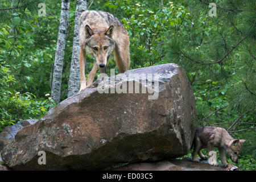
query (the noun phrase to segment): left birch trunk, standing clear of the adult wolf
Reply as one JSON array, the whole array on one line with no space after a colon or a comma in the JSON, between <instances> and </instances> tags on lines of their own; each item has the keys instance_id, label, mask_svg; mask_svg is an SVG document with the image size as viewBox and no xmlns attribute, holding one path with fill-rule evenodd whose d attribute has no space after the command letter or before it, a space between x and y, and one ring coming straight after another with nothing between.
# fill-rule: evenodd
<instances>
[{"instance_id":1,"label":"left birch trunk, standing clear of the adult wolf","mask_svg":"<svg viewBox=\"0 0 256 182\"><path fill-rule=\"evenodd\" d=\"M56 103L60 102L61 78L63 70L65 44L68 32L69 20L69 2L70 0L61 0L60 26L55 52L55 61L52 78L51 97Z\"/></svg>"}]
</instances>

